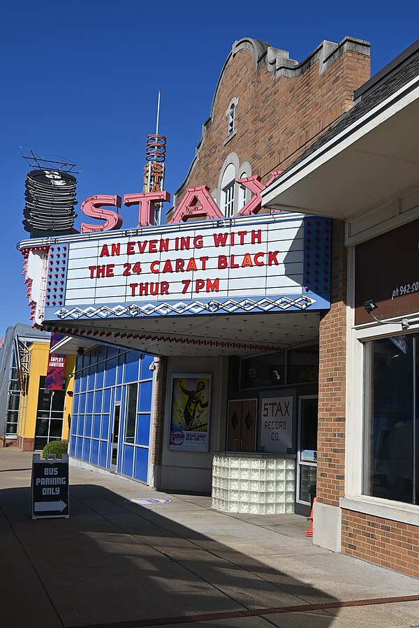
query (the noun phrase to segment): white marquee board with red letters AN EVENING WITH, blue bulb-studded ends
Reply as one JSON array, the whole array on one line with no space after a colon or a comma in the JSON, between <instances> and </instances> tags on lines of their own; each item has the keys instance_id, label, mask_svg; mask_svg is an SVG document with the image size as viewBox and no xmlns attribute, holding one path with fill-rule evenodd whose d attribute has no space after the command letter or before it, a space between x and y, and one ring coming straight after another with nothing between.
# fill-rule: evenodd
<instances>
[{"instance_id":1,"label":"white marquee board with red letters AN EVENING WITH, blue bulb-studded ends","mask_svg":"<svg viewBox=\"0 0 419 628\"><path fill-rule=\"evenodd\" d=\"M330 307L328 219L274 214L238 223L80 235L51 245L45 321Z\"/></svg>"}]
</instances>

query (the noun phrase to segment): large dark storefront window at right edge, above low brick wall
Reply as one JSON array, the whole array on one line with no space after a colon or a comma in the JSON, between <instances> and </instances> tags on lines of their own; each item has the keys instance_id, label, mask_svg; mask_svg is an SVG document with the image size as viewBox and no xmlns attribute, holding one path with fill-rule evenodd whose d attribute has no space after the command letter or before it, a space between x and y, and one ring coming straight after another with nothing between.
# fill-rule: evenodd
<instances>
[{"instance_id":1,"label":"large dark storefront window at right edge, above low brick wall","mask_svg":"<svg viewBox=\"0 0 419 628\"><path fill-rule=\"evenodd\" d=\"M363 494L419 499L419 334L365 343Z\"/></svg>"}]
</instances>

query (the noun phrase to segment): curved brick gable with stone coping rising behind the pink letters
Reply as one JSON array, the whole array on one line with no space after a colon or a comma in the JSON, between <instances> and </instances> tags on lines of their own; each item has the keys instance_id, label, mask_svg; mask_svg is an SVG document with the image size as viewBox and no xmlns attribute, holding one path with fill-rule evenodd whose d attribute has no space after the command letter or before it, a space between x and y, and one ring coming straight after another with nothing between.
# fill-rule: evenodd
<instances>
[{"instance_id":1,"label":"curved brick gable with stone coping rising behind the pink letters","mask_svg":"<svg viewBox=\"0 0 419 628\"><path fill-rule=\"evenodd\" d=\"M323 41L302 63L267 43L235 42L175 206L191 187L207 185L216 198L231 154L240 164L249 163L247 175L260 175L263 183L272 170L284 170L351 108L353 92L369 78L369 69L369 43L353 38ZM235 130L229 135L232 103Z\"/></svg>"}]
</instances>

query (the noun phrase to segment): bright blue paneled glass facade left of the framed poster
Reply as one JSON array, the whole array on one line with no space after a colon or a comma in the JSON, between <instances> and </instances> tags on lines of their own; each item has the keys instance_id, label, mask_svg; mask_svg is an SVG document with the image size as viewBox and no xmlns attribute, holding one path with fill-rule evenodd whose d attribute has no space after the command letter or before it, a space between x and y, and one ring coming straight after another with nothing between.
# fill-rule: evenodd
<instances>
[{"instance_id":1,"label":"bright blue paneled glass facade left of the framed poster","mask_svg":"<svg viewBox=\"0 0 419 628\"><path fill-rule=\"evenodd\" d=\"M104 345L95 346L78 358L70 455L103 469L111 469L112 463L113 471L147 482L152 410L152 371L149 366L152 360L153 357L145 353ZM130 426L127 429L127 389L130 384ZM134 387L134 413L132 384L138 384ZM115 405L120 406L120 421L117 455L114 453L112 459Z\"/></svg>"}]
</instances>

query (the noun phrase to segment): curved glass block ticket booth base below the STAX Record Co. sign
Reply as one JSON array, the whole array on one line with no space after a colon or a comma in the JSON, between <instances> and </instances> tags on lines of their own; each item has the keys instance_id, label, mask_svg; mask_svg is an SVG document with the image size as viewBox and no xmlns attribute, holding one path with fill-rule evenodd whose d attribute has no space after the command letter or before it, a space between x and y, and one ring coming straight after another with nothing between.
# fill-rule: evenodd
<instances>
[{"instance_id":1,"label":"curved glass block ticket booth base below the STAX Record Co. sign","mask_svg":"<svg viewBox=\"0 0 419 628\"><path fill-rule=\"evenodd\" d=\"M294 512L293 458L237 458L214 455L212 507L223 512L285 514Z\"/></svg>"}]
</instances>

